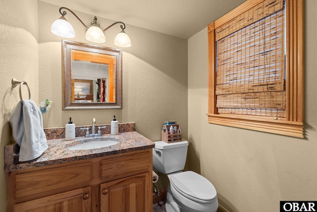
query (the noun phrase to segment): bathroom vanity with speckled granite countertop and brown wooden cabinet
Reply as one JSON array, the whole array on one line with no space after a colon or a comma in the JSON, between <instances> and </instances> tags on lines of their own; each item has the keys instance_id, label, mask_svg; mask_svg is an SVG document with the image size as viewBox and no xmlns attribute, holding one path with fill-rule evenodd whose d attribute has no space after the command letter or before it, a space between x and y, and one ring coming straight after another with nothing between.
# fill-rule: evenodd
<instances>
[{"instance_id":1,"label":"bathroom vanity with speckled granite countertop and brown wooden cabinet","mask_svg":"<svg viewBox=\"0 0 317 212\"><path fill-rule=\"evenodd\" d=\"M15 162L16 144L5 146L8 212L152 212L154 142L137 132L105 137L119 143L68 150L83 138L48 140L28 162Z\"/></svg>"}]
</instances>

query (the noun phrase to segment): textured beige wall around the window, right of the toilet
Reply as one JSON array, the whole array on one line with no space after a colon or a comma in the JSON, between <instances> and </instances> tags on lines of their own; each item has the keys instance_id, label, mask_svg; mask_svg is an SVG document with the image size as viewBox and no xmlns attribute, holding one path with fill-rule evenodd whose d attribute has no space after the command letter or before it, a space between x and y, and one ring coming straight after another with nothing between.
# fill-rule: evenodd
<instances>
[{"instance_id":1,"label":"textured beige wall around the window, right of the toilet","mask_svg":"<svg viewBox=\"0 0 317 212\"><path fill-rule=\"evenodd\" d=\"M316 9L305 1L305 139L208 124L207 28L188 40L189 169L212 182L229 212L317 200Z\"/></svg>"}]
</instances>

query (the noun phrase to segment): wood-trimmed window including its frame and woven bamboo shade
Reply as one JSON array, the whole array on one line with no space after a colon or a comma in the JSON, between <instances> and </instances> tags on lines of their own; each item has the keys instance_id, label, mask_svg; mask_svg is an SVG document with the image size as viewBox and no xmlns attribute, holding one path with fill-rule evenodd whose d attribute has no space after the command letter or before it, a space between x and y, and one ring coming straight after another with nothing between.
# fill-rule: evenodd
<instances>
[{"instance_id":1,"label":"wood-trimmed window including its frame and woven bamboo shade","mask_svg":"<svg viewBox=\"0 0 317 212\"><path fill-rule=\"evenodd\" d=\"M208 34L209 123L303 138L303 1L247 0Z\"/></svg>"}]
</instances>

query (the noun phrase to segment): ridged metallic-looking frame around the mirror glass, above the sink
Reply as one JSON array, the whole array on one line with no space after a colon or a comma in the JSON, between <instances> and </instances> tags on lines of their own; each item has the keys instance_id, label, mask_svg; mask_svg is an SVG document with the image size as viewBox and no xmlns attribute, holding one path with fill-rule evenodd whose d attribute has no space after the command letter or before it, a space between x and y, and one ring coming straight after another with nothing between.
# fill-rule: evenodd
<instances>
[{"instance_id":1,"label":"ridged metallic-looking frame around the mirror glass, above the sink","mask_svg":"<svg viewBox=\"0 0 317 212\"><path fill-rule=\"evenodd\" d=\"M72 50L115 57L115 102L72 102ZM63 110L122 109L122 50L62 40L62 96Z\"/></svg>"}]
</instances>

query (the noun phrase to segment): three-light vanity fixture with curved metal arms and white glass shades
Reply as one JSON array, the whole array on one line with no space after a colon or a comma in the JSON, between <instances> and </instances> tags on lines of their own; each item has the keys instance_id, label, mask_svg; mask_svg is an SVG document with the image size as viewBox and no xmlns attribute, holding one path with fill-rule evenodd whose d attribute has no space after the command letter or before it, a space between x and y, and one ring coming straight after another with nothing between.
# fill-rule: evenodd
<instances>
[{"instance_id":1,"label":"three-light vanity fixture with curved metal arms and white glass shades","mask_svg":"<svg viewBox=\"0 0 317 212\"><path fill-rule=\"evenodd\" d=\"M51 27L51 32L54 35L64 37L64 38L74 38L75 37L75 30L73 26L66 20L65 15L67 12L62 9L69 10L86 28L86 39L88 41L94 42L94 43L105 43L106 37L104 32L108 30L110 27L117 23L121 23L121 32L119 32L115 38L114 38L114 45L118 47L130 47L131 46L131 40L129 36L125 33L125 24L121 21L114 22L110 26L108 26L106 29L102 30L100 28L100 24L97 22L97 17L94 17L94 20L90 23L89 26L86 26L84 22L70 9L67 7L60 7L59 13L61 14L61 17L55 20Z\"/></svg>"}]
</instances>

